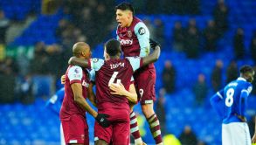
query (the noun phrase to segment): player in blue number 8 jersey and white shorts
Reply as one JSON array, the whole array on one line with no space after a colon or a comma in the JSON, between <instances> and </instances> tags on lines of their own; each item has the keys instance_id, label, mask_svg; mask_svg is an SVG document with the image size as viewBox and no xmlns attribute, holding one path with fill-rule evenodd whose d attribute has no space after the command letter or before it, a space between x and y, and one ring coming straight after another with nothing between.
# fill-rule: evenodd
<instances>
[{"instance_id":1,"label":"player in blue number 8 jersey and white shorts","mask_svg":"<svg viewBox=\"0 0 256 145\"><path fill-rule=\"evenodd\" d=\"M246 123L246 104L252 92L254 71L242 66L240 76L211 97L211 106L222 118L223 145L251 145Z\"/></svg>"}]
</instances>

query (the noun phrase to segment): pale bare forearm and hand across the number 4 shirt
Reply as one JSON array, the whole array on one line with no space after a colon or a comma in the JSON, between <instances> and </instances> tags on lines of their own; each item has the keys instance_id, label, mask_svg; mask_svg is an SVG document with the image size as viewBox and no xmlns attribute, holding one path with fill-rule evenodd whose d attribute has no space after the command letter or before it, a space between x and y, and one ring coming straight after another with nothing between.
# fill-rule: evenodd
<instances>
[{"instance_id":1,"label":"pale bare forearm and hand across the number 4 shirt","mask_svg":"<svg viewBox=\"0 0 256 145\"><path fill-rule=\"evenodd\" d=\"M111 94L118 94L121 96L125 96L130 102L135 103L137 101L137 93L135 91L135 85L131 84L129 86L129 91L125 89L125 87L119 83L119 84L111 84L109 88L114 91L111 92Z\"/></svg>"}]
</instances>

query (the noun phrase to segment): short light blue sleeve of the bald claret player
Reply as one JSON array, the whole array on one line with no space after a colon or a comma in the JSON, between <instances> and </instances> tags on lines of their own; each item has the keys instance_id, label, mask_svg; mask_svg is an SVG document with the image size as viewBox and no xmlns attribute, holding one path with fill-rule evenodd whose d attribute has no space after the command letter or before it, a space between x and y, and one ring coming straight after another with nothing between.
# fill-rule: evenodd
<instances>
[{"instance_id":1,"label":"short light blue sleeve of the bald claret player","mask_svg":"<svg viewBox=\"0 0 256 145\"><path fill-rule=\"evenodd\" d=\"M67 77L70 80L70 84L81 83L83 77L83 70L80 66L72 66L67 72Z\"/></svg>"}]
</instances>

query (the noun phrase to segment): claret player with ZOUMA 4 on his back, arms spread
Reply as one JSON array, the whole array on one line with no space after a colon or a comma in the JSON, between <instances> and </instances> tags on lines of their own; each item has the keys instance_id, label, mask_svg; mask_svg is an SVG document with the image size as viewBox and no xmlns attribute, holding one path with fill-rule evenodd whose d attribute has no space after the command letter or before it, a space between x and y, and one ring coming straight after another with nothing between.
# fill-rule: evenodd
<instances>
[{"instance_id":1,"label":"claret player with ZOUMA 4 on his back, arms spread","mask_svg":"<svg viewBox=\"0 0 256 145\"><path fill-rule=\"evenodd\" d=\"M99 114L107 114L109 128L102 128L98 122L94 126L94 141L96 144L129 144L129 100L136 101L135 87L131 92L133 73L140 67L156 61L160 55L160 47L147 57L127 57L120 59L121 44L111 39L105 45L105 61L103 59L82 60L70 59L71 64L89 67L95 70L96 102ZM117 83L117 85L114 85ZM120 86L118 85L120 84ZM110 88L114 90L111 92ZM126 91L126 90L129 90ZM123 96L123 97L122 97Z\"/></svg>"}]
</instances>

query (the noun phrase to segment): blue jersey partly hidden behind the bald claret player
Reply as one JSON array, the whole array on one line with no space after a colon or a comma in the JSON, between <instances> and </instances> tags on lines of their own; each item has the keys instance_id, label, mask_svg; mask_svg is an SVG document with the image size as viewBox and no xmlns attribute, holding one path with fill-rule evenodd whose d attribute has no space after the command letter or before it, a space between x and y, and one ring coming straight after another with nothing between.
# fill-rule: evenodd
<instances>
[{"instance_id":1,"label":"blue jersey partly hidden behind the bald claret player","mask_svg":"<svg viewBox=\"0 0 256 145\"><path fill-rule=\"evenodd\" d=\"M46 107L50 108L53 113L59 115L64 95L64 87L62 87L46 102Z\"/></svg>"}]
</instances>

